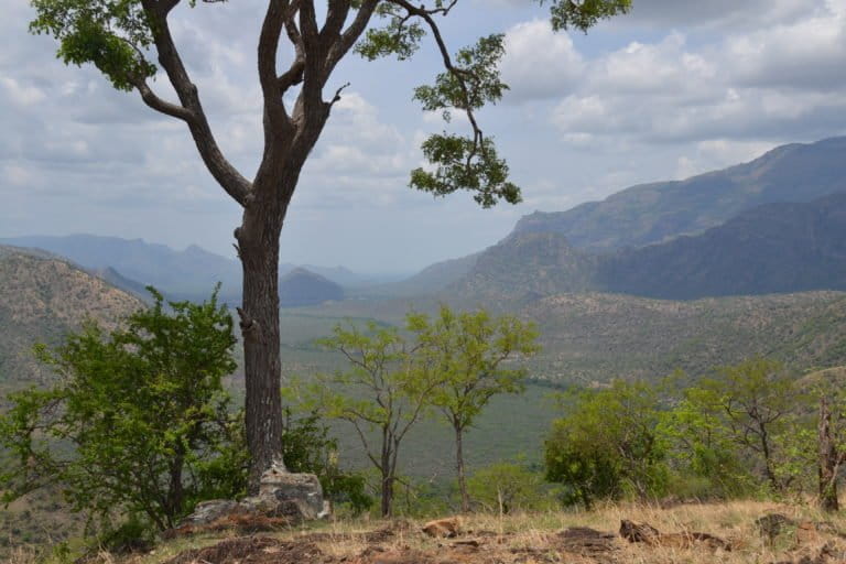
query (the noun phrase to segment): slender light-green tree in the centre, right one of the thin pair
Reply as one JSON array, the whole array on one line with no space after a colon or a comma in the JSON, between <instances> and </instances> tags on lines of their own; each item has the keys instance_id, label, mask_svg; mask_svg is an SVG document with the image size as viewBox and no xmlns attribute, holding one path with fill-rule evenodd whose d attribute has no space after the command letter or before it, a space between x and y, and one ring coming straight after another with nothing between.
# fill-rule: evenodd
<instances>
[{"instance_id":1,"label":"slender light-green tree in the centre, right one of the thin pair","mask_svg":"<svg viewBox=\"0 0 846 564\"><path fill-rule=\"evenodd\" d=\"M453 429L462 511L470 509L464 466L464 434L494 395L523 390L525 369L507 364L539 350L538 330L511 316L492 318L487 312L454 313L442 305L434 321L410 315L423 364L442 380L430 398Z\"/></svg>"}]
</instances>

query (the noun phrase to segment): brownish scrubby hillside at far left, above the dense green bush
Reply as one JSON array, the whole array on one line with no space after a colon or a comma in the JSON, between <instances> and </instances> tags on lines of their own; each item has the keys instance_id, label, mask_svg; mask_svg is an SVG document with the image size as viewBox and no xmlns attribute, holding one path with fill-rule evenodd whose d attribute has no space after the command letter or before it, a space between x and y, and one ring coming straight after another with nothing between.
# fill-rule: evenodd
<instances>
[{"instance_id":1,"label":"brownish scrubby hillside at far left, above the dense green bush","mask_svg":"<svg viewBox=\"0 0 846 564\"><path fill-rule=\"evenodd\" d=\"M68 262L0 247L0 387L37 381L30 350L90 317L106 327L142 303Z\"/></svg>"}]
</instances>

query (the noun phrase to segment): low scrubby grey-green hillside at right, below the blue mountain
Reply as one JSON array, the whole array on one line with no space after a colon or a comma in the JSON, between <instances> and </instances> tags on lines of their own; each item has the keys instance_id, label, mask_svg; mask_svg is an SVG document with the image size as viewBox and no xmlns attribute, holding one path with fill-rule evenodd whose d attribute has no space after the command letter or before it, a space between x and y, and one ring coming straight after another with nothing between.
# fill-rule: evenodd
<instances>
[{"instance_id":1,"label":"low scrubby grey-green hillside at right, below the blue mountain","mask_svg":"<svg viewBox=\"0 0 846 564\"><path fill-rule=\"evenodd\" d=\"M536 378L556 382L702 375L756 355L804 371L846 364L846 293L807 292L694 302L563 294L527 305L541 330Z\"/></svg>"}]
</instances>

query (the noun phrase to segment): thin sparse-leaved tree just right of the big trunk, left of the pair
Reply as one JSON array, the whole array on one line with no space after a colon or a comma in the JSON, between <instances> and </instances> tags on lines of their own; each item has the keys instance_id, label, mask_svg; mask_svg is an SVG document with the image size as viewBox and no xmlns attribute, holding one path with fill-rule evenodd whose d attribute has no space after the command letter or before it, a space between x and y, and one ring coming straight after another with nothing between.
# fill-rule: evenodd
<instances>
[{"instance_id":1,"label":"thin sparse-leaved tree just right of the big trunk, left of the pair","mask_svg":"<svg viewBox=\"0 0 846 564\"><path fill-rule=\"evenodd\" d=\"M319 408L327 417L352 425L380 476L381 513L393 510L400 444L417 422L437 381L421 369L413 350L393 328L375 323L367 332L335 327L323 340L339 351L349 369L317 375L315 381L296 386L302 403Z\"/></svg>"}]
</instances>

